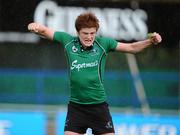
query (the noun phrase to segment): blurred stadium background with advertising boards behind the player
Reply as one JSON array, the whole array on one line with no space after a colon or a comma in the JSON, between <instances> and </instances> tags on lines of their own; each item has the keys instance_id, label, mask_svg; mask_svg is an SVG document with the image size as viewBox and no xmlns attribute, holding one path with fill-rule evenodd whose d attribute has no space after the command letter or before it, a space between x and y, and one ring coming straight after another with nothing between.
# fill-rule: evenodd
<instances>
[{"instance_id":1,"label":"blurred stadium background with advertising boards behind the player","mask_svg":"<svg viewBox=\"0 0 180 135\"><path fill-rule=\"evenodd\" d=\"M75 35L74 20L84 11L99 18L99 36L133 42L156 31L163 39L136 55L108 56L104 83L110 110L120 115L113 115L116 134L132 135L123 132L129 129L145 135L142 127L151 123L148 135L180 135L179 0L0 0L0 135L24 134L21 120L39 121L26 135L63 134L70 94L64 50L29 33L27 25L35 21ZM137 122L139 115L146 123Z\"/></svg>"}]
</instances>

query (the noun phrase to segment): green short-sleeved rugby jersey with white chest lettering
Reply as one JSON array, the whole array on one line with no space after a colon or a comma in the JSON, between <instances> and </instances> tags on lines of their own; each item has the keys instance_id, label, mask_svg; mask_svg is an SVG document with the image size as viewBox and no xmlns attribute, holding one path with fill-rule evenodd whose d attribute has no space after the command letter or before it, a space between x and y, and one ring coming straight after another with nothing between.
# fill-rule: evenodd
<instances>
[{"instance_id":1,"label":"green short-sleeved rugby jersey with white chest lettering","mask_svg":"<svg viewBox=\"0 0 180 135\"><path fill-rule=\"evenodd\" d=\"M114 51L117 41L96 37L90 49L83 50L78 37L55 32L53 41L59 42L68 59L70 71L70 101L79 104L98 104L106 100L103 86L108 52Z\"/></svg>"}]
</instances>

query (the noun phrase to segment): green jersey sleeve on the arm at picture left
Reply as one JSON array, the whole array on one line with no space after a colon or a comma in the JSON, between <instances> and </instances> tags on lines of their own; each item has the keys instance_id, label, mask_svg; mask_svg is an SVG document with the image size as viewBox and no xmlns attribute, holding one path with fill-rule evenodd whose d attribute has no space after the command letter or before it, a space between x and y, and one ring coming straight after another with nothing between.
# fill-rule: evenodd
<instances>
[{"instance_id":1,"label":"green jersey sleeve on the arm at picture left","mask_svg":"<svg viewBox=\"0 0 180 135\"><path fill-rule=\"evenodd\" d=\"M56 31L53 36L53 41L60 43L63 47L73 40L73 36L66 32Z\"/></svg>"}]
</instances>

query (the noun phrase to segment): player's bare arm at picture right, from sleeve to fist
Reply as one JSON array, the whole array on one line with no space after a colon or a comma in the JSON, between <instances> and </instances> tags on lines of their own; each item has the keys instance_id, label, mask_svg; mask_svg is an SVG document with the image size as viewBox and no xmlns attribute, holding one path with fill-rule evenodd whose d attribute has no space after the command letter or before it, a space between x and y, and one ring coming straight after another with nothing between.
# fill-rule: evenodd
<instances>
[{"instance_id":1,"label":"player's bare arm at picture right, from sleeve to fist","mask_svg":"<svg viewBox=\"0 0 180 135\"><path fill-rule=\"evenodd\" d=\"M137 53L142 50L144 50L147 47L150 47L152 45L157 45L162 40L161 36L154 32L151 35L149 35L149 38L142 41L137 41L133 43L122 43L118 42L118 45L116 47L116 51L125 52L125 53Z\"/></svg>"}]
</instances>

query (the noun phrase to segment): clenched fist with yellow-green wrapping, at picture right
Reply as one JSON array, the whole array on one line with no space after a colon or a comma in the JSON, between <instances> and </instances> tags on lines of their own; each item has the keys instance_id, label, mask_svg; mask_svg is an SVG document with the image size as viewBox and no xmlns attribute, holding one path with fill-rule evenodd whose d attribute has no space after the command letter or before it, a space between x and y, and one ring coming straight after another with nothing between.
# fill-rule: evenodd
<instances>
[{"instance_id":1,"label":"clenched fist with yellow-green wrapping, at picture right","mask_svg":"<svg viewBox=\"0 0 180 135\"><path fill-rule=\"evenodd\" d=\"M162 41L161 35L159 33L153 32L148 34L149 39L151 40L152 44L157 45Z\"/></svg>"}]
</instances>

